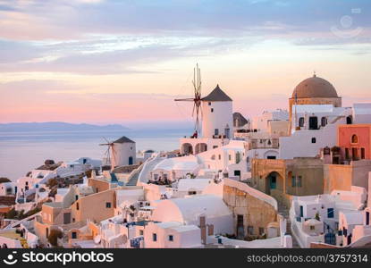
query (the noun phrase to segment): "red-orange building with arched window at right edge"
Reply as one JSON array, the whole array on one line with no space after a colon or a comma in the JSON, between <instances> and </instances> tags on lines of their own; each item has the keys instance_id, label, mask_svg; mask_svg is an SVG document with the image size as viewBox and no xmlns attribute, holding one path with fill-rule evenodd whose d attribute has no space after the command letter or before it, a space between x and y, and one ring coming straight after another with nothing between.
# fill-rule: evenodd
<instances>
[{"instance_id":1,"label":"red-orange building with arched window at right edge","mask_svg":"<svg viewBox=\"0 0 371 268\"><path fill-rule=\"evenodd\" d=\"M338 146L345 160L371 159L371 124L339 126Z\"/></svg>"}]
</instances>

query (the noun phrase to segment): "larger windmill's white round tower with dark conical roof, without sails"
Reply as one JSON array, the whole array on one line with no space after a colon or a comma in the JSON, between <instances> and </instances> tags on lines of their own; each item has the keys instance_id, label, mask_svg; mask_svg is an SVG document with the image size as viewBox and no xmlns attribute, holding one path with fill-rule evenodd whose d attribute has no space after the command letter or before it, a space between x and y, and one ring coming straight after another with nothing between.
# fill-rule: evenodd
<instances>
[{"instance_id":1,"label":"larger windmill's white round tower with dark conical roof, without sails","mask_svg":"<svg viewBox=\"0 0 371 268\"><path fill-rule=\"evenodd\" d=\"M232 98L219 85L201 99L202 138L233 138Z\"/></svg>"}]
</instances>

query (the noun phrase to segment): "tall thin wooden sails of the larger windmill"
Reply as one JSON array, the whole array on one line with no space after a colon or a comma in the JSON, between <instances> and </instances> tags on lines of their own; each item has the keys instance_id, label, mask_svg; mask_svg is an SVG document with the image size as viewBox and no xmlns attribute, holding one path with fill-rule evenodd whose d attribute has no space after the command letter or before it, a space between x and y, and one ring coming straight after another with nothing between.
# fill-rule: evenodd
<instances>
[{"instance_id":1,"label":"tall thin wooden sails of the larger windmill","mask_svg":"<svg viewBox=\"0 0 371 268\"><path fill-rule=\"evenodd\" d=\"M202 117L202 110L201 107L201 70L198 68L198 64L193 69L193 80L192 80L193 88L195 91L194 97L187 97L187 98L176 98L174 101L176 102L193 102L193 110L192 110L192 117L195 117L196 113L196 120L195 120L195 131L199 133L199 112L201 111Z\"/></svg>"}]
</instances>

